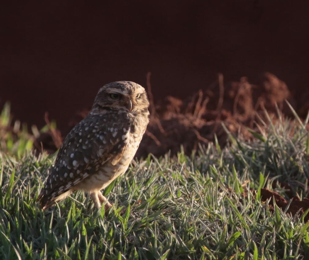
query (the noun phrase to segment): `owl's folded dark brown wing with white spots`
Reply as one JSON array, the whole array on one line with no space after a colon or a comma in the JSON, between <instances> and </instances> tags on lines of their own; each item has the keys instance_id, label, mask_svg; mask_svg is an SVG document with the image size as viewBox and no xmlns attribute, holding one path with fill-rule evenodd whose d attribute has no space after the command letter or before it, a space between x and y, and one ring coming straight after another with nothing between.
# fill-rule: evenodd
<instances>
[{"instance_id":1,"label":"owl's folded dark brown wing with white spots","mask_svg":"<svg viewBox=\"0 0 309 260\"><path fill-rule=\"evenodd\" d=\"M116 164L127 147L130 121L122 113L89 114L66 136L38 200L42 208L69 191L108 161Z\"/></svg>"}]
</instances>

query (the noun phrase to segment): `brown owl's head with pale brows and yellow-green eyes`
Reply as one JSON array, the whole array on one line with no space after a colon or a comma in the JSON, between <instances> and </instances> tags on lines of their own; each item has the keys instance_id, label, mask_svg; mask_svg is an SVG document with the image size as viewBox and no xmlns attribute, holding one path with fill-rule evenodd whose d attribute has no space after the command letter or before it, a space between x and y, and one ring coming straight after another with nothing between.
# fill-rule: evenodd
<instances>
[{"instance_id":1,"label":"brown owl's head with pale brows and yellow-green eyes","mask_svg":"<svg viewBox=\"0 0 309 260\"><path fill-rule=\"evenodd\" d=\"M131 81L116 81L104 85L95 97L92 110L115 109L139 112L148 109L145 89Z\"/></svg>"}]
</instances>

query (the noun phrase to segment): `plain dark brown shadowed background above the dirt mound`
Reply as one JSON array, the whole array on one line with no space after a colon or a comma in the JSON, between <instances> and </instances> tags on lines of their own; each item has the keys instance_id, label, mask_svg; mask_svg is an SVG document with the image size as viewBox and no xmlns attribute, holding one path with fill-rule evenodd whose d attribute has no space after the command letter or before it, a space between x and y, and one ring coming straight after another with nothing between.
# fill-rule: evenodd
<instances>
[{"instance_id":1,"label":"plain dark brown shadowed background above the dirt mound","mask_svg":"<svg viewBox=\"0 0 309 260\"><path fill-rule=\"evenodd\" d=\"M211 3L213 2L213 3ZM1 7L0 107L67 126L100 86L151 83L155 99L184 98L222 72L268 71L308 100L308 1L52 1ZM307 90L307 92L306 92Z\"/></svg>"}]
</instances>

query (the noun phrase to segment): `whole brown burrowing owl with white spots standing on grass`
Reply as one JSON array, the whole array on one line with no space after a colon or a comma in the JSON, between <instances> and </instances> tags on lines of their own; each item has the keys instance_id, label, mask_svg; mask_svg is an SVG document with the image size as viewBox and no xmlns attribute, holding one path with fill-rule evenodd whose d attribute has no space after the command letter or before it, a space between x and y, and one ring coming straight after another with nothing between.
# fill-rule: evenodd
<instances>
[{"instance_id":1,"label":"whole brown burrowing owl with white spots standing on grass","mask_svg":"<svg viewBox=\"0 0 309 260\"><path fill-rule=\"evenodd\" d=\"M145 89L130 81L104 85L91 112L65 138L38 200L44 209L70 193L90 194L96 207L112 205L100 190L124 174L149 122Z\"/></svg>"}]
</instances>

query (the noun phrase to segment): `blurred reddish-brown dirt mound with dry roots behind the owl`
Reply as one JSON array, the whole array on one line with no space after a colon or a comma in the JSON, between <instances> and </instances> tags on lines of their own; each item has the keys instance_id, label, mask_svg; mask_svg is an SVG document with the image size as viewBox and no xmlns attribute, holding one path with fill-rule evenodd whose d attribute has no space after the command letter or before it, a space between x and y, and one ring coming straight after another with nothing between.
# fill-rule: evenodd
<instances>
[{"instance_id":1,"label":"blurred reddish-brown dirt mound with dry roots behind the owl","mask_svg":"<svg viewBox=\"0 0 309 260\"><path fill-rule=\"evenodd\" d=\"M147 77L147 88L150 96L150 123L136 154L139 158L149 153L161 156L168 151L173 155L180 150L180 145L190 154L198 143L214 141L214 135L223 146L227 134L222 124L235 135L252 138L247 127L254 128L254 123L259 121L257 115L265 119L264 109L275 118L277 109L286 116L293 116L285 100L292 106L296 103L287 85L271 73L263 74L258 84L251 84L246 77L224 84L223 75L219 74L218 80L206 90L200 90L184 100L168 96L156 104L151 93L150 74ZM66 136L88 112L84 110L74 115L62 136ZM56 133L50 131L40 136L36 146L41 148L40 143L43 143L44 149L56 151L61 140L61 136L55 136Z\"/></svg>"}]
</instances>

